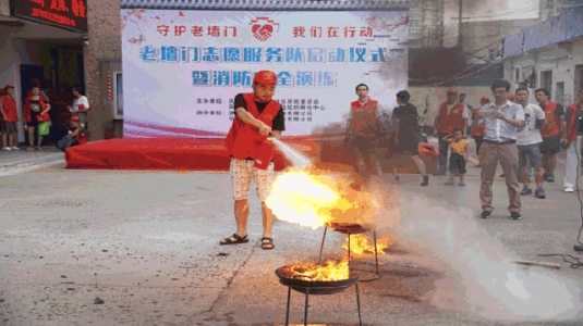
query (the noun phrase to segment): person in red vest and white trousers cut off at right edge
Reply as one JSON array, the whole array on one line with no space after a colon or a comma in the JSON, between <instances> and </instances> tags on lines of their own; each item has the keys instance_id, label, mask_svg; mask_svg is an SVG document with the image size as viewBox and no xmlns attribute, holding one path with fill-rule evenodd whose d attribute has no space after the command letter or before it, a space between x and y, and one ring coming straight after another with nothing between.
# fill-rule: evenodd
<instances>
[{"instance_id":1,"label":"person in red vest and white trousers cut off at right edge","mask_svg":"<svg viewBox=\"0 0 583 326\"><path fill-rule=\"evenodd\" d=\"M573 192L573 188L578 186L578 168L581 166L581 162L583 162L581 160L581 138L583 137L583 89L579 92L579 102L567 108L564 120L567 121L567 128L564 129L562 138L563 146L567 148L567 158L562 185L566 192Z\"/></svg>"}]
</instances>

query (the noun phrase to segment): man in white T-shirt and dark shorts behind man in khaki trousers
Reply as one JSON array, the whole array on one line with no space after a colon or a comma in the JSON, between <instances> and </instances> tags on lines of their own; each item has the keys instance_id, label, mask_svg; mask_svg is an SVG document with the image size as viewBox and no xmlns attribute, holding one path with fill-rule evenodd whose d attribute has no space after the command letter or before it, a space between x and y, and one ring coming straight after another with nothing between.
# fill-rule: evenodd
<instances>
[{"instance_id":1,"label":"man in white T-shirt and dark shorts behind man in khaki trousers","mask_svg":"<svg viewBox=\"0 0 583 326\"><path fill-rule=\"evenodd\" d=\"M541 106L529 103L530 92L526 88L517 89L515 95L517 103L520 104L524 111L524 125L517 131L520 176L524 184L520 195L525 196L533 193L533 189L530 187L527 172L530 165L534 168L534 179L536 183L534 196L536 198L545 198L545 190L543 189L543 155L541 154L541 143L543 142L541 129L547 124L545 112Z\"/></svg>"}]
</instances>

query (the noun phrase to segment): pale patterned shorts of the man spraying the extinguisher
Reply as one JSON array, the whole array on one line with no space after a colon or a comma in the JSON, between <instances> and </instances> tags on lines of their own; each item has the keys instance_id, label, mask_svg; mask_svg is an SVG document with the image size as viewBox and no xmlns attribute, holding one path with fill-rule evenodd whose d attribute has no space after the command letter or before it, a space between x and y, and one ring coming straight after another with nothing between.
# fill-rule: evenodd
<instances>
[{"instance_id":1,"label":"pale patterned shorts of the man spraying the extinguisher","mask_svg":"<svg viewBox=\"0 0 583 326\"><path fill-rule=\"evenodd\" d=\"M274 162L267 170L256 168L255 161L231 159L231 179L233 183L234 200L247 199L251 188L251 179L255 180L255 189L259 201L264 202L269 196L274 181Z\"/></svg>"}]
</instances>

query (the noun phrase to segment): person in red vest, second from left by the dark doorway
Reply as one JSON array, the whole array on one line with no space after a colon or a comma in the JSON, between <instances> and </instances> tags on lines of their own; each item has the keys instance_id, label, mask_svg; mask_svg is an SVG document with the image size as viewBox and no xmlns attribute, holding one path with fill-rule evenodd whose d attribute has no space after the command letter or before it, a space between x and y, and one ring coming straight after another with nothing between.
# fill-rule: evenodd
<instances>
[{"instance_id":1,"label":"person in red vest, second from left by the dark doorway","mask_svg":"<svg viewBox=\"0 0 583 326\"><path fill-rule=\"evenodd\" d=\"M27 151L35 149L35 130L38 130L38 122L48 117L47 112L50 110L50 105L45 102L45 98L40 96L40 88L34 86L31 90L32 95L24 100L24 130L28 130L28 148ZM37 135L37 150L40 150L40 143L42 142L42 136Z\"/></svg>"}]
</instances>

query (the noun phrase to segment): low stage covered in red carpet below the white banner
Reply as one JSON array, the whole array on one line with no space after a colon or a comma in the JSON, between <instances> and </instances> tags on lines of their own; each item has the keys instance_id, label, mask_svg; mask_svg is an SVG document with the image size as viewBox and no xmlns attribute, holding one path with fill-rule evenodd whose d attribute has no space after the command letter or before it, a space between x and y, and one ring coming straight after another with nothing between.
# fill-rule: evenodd
<instances>
[{"instance_id":1,"label":"low stage covered in red carpet below the white banner","mask_svg":"<svg viewBox=\"0 0 583 326\"><path fill-rule=\"evenodd\" d=\"M282 139L287 145L323 162L353 165L342 141L315 141L307 138ZM65 151L68 168L90 170L177 170L229 171L230 156L222 146L223 139L207 138L123 138L89 142ZM435 161L422 154L430 173ZM280 151L274 155L276 171L291 166ZM408 161L409 160L409 161ZM386 161L386 160L382 160ZM386 162L382 162L384 170ZM400 173L415 173L413 161L405 158L399 164ZM413 170L412 170L413 167Z\"/></svg>"}]
</instances>

